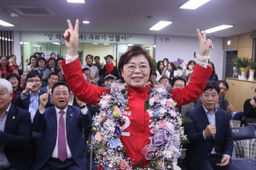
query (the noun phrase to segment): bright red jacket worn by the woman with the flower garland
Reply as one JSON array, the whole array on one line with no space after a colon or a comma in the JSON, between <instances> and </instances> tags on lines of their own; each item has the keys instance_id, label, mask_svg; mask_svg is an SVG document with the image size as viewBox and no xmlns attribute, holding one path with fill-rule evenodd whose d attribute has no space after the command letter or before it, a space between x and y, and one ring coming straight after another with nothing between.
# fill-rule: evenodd
<instances>
[{"instance_id":1,"label":"bright red jacket worn by the woman with the flower garland","mask_svg":"<svg viewBox=\"0 0 256 170\"><path fill-rule=\"evenodd\" d=\"M61 65L69 88L75 96L85 103L96 105L102 94L108 93L107 88L87 83L84 80L79 59L67 65L66 60L63 60ZM189 85L172 90L172 99L176 100L177 107L187 105L198 99L211 73L212 68L195 65ZM135 163L145 158L142 153L143 148L147 144L153 143L154 134L150 132L150 119L153 116L153 112L144 110L144 102L148 98L148 94L148 86L145 88L128 88L128 107L130 109L124 113L126 121L120 124L122 126L121 141L126 148L128 156ZM147 164L148 161L143 161L143 165Z\"/></svg>"}]
</instances>

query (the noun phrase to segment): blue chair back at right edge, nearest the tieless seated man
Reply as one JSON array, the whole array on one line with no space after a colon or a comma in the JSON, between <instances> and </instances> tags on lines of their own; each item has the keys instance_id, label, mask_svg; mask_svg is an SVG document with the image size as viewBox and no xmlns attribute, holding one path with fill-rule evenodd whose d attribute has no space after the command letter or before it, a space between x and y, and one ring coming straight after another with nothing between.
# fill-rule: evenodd
<instances>
[{"instance_id":1,"label":"blue chair back at right edge, nearest the tieless seated man","mask_svg":"<svg viewBox=\"0 0 256 170\"><path fill-rule=\"evenodd\" d=\"M252 126L230 127L233 140L256 139L255 130Z\"/></svg>"}]
</instances>

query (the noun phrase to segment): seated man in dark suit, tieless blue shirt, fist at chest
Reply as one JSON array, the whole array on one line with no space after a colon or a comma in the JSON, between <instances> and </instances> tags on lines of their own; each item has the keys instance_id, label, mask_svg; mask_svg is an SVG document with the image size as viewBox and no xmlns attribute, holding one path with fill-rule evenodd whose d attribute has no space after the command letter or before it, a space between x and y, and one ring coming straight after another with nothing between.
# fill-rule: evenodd
<instances>
[{"instance_id":1,"label":"seated man in dark suit, tieless blue shirt, fist at chest","mask_svg":"<svg viewBox=\"0 0 256 170\"><path fill-rule=\"evenodd\" d=\"M189 170L236 170L230 161L233 139L230 118L226 111L215 107L219 86L207 82L201 94L202 105L186 113L192 122L184 124L189 144L185 162Z\"/></svg>"}]
</instances>

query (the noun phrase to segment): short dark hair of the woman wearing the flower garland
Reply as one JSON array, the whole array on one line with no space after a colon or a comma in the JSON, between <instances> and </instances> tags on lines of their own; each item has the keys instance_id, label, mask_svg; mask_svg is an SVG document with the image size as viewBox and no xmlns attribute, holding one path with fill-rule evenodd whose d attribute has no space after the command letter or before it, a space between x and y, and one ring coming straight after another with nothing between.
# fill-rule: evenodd
<instances>
[{"instance_id":1,"label":"short dark hair of the woman wearing the flower garland","mask_svg":"<svg viewBox=\"0 0 256 170\"><path fill-rule=\"evenodd\" d=\"M150 69L150 74L148 79L150 78L152 72L153 72L153 61L150 57L150 55L148 54L148 52L139 46L133 46L131 48L129 48L124 54L121 55L120 59L119 59L119 65L118 65L118 69L119 69L119 75L120 75L120 79L124 82L124 78L122 77L122 70L124 68L124 65L126 65L132 57L135 57L137 55L144 55L146 57L146 59L148 59L148 65L149 65L149 69Z\"/></svg>"}]
</instances>

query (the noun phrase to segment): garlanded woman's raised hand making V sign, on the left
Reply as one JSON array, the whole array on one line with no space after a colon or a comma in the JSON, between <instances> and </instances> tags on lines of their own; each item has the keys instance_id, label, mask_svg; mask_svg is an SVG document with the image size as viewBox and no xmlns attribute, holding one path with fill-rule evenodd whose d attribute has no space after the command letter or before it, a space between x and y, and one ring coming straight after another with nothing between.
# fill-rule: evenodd
<instances>
[{"instance_id":1,"label":"garlanded woman's raised hand making V sign, on the left","mask_svg":"<svg viewBox=\"0 0 256 170\"><path fill-rule=\"evenodd\" d=\"M67 20L67 24L69 28L63 34L67 47L67 55L75 57L78 55L79 48L79 20L76 20L74 29L70 20Z\"/></svg>"}]
</instances>

